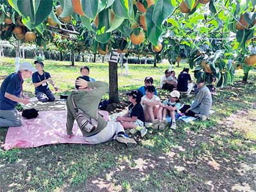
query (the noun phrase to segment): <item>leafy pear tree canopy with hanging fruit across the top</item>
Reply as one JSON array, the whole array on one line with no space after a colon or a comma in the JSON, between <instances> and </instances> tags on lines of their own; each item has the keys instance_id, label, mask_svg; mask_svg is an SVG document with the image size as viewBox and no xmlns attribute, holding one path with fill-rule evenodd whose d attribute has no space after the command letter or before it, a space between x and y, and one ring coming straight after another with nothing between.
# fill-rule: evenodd
<instances>
[{"instance_id":1,"label":"leafy pear tree canopy with hanging fruit across the top","mask_svg":"<svg viewBox=\"0 0 256 192\"><path fill-rule=\"evenodd\" d=\"M188 60L217 86L256 63L256 0L0 0L2 40Z\"/></svg>"}]
</instances>

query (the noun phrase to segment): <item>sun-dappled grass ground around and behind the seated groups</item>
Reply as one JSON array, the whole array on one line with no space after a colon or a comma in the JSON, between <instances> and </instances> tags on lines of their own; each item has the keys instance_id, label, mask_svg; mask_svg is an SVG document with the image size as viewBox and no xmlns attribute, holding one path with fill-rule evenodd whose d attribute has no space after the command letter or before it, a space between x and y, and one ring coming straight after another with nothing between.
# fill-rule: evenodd
<instances>
[{"instance_id":1,"label":"sun-dappled grass ground around and behind the seated groups","mask_svg":"<svg viewBox=\"0 0 256 192\"><path fill-rule=\"evenodd\" d=\"M14 61L1 58L0 83L13 72ZM60 86L58 94L74 88L81 65L45 61L45 70ZM107 63L88 66L92 77L108 82ZM176 74L184 66L174 67ZM159 86L166 68L129 65L129 76L118 76L119 90L138 88L146 76ZM256 191L256 72L250 72L247 84L239 81L242 76L238 70L232 85L218 88L210 120L179 121L177 130L151 131L143 140L135 136L138 145L129 148L115 141L0 148L0 191ZM24 90L33 95L31 80ZM6 132L0 129L0 145Z\"/></svg>"}]
</instances>

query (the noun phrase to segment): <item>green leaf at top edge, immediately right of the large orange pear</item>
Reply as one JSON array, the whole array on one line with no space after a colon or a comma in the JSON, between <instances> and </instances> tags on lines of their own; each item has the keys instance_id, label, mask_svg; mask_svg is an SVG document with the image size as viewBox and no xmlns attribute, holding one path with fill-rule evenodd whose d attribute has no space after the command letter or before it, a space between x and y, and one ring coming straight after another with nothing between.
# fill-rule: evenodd
<instances>
[{"instance_id":1,"label":"green leaf at top edge, immediately right of the large orange pear","mask_svg":"<svg viewBox=\"0 0 256 192\"><path fill-rule=\"evenodd\" d=\"M95 0L81 0L81 5L84 14L89 19L95 19L99 10L99 1Z\"/></svg>"}]
</instances>

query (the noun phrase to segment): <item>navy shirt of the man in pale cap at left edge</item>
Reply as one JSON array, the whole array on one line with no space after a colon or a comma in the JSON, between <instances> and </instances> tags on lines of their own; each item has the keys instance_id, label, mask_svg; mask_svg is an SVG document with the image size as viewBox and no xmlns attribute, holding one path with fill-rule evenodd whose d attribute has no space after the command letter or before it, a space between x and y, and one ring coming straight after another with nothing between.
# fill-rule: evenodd
<instances>
[{"instance_id":1,"label":"navy shirt of the man in pale cap at left edge","mask_svg":"<svg viewBox=\"0 0 256 192\"><path fill-rule=\"evenodd\" d=\"M17 106L17 102L4 97L5 93L10 93L16 97L20 97L22 91L23 79L20 73L13 73L7 76L0 88L0 109L1 110L13 110Z\"/></svg>"}]
</instances>

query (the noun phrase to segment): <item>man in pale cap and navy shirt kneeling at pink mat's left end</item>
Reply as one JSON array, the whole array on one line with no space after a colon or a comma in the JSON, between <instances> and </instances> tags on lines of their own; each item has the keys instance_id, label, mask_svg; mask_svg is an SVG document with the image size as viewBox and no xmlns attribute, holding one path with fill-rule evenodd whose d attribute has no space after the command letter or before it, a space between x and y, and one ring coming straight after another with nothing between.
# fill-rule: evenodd
<instances>
[{"instance_id":1,"label":"man in pale cap and navy shirt kneeling at pink mat's left end","mask_svg":"<svg viewBox=\"0 0 256 192\"><path fill-rule=\"evenodd\" d=\"M20 127L21 120L16 109L18 102L28 104L29 97L22 94L24 79L31 78L36 69L31 63L24 62L19 66L19 71L5 77L0 88L0 127ZM22 98L20 98L20 96Z\"/></svg>"}]
</instances>

